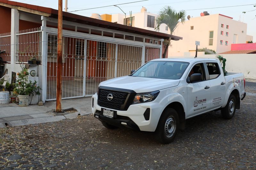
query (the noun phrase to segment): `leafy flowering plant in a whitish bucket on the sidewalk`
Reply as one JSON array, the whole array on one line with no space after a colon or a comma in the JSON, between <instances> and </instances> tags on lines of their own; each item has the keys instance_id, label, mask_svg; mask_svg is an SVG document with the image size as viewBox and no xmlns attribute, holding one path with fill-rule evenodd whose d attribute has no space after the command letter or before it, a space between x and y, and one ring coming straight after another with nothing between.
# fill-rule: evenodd
<instances>
[{"instance_id":1,"label":"leafy flowering plant in a whitish bucket on the sidewalk","mask_svg":"<svg viewBox=\"0 0 256 170\"><path fill-rule=\"evenodd\" d=\"M28 69L22 64L20 66L21 71L17 73L18 78L16 79L16 87L13 89L13 92L19 95L19 106L28 106L29 95L32 94L32 97L34 94L40 95L40 90L42 89L36 85L36 81L28 81Z\"/></svg>"}]
</instances>

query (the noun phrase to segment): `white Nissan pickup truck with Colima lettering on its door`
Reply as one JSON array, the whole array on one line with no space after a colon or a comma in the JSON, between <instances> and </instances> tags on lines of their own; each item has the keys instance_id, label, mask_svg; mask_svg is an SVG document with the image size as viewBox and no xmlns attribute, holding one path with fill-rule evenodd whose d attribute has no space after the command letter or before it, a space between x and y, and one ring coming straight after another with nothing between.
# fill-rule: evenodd
<instances>
[{"instance_id":1,"label":"white Nissan pickup truck with Colima lettering on its door","mask_svg":"<svg viewBox=\"0 0 256 170\"><path fill-rule=\"evenodd\" d=\"M156 59L129 76L101 82L92 96L92 113L108 129L155 132L168 144L196 115L221 110L231 119L244 88L244 74L224 76L218 59Z\"/></svg>"}]
</instances>

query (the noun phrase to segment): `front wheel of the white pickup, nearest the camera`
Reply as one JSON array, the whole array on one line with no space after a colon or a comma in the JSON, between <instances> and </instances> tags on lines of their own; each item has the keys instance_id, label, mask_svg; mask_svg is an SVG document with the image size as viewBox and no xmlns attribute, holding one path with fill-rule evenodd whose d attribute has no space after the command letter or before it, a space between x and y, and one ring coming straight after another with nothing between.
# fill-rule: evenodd
<instances>
[{"instance_id":1,"label":"front wheel of the white pickup, nearest the camera","mask_svg":"<svg viewBox=\"0 0 256 170\"><path fill-rule=\"evenodd\" d=\"M156 128L156 139L163 144L171 143L179 129L179 116L175 109L166 108Z\"/></svg>"}]
</instances>

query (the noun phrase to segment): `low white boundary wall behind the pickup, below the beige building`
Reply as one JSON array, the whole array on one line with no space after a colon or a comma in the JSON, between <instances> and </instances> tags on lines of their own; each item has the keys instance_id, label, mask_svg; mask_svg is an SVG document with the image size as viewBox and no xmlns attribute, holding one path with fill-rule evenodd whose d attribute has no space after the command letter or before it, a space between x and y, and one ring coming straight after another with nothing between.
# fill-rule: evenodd
<instances>
[{"instance_id":1,"label":"low white boundary wall behind the pickup, below the beige building","mask_svg":"<svg viewBox=\"0 0 256 170\"><path fill-rule=\"evenodd\" d=\"M204 55L204 52L197 53L198 58L215 58L216 54ZM172 56L168 58L195 57L195 53L185 53L183 56ZM223 54L226 58L225 70L228 72L244 73L245 78L256 79L256 54Z\"/></svg>"}]
</instances>

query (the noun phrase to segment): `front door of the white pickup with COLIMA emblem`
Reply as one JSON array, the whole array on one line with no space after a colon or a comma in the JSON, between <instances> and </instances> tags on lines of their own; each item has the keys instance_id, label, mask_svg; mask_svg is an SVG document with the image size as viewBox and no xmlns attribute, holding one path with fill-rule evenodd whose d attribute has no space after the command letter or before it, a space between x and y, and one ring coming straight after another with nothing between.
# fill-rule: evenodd
<instances>
[{"instance_id":1,"label":"front door of the white pickup with COLIMA emblem","mask_svg":"<svg viewBox=\"0 0 256 170\"><path fill-rule=\"evenodd\" d=\"M206 80L204 63L196 63L190 70L187 78L191 74L200 73L201 81L188 83L187 118L203 113L210 108L211 86Z\"/></svg>"}]
</instances>

